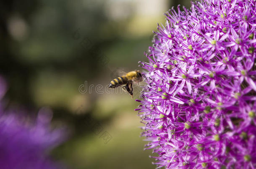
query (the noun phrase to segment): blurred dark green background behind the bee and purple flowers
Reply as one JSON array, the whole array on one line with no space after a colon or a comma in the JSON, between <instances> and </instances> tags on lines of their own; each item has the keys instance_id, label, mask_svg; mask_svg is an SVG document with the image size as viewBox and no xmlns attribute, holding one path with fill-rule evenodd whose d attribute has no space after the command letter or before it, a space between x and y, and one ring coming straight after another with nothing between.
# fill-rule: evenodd
<instances>
[{"instance_id":1,"label":"blurred dark green background behind the bee and purple flowers","mask_svg":"<svg viewBox=\"0 0 256 169\"><path fill-rule=\"evenodd\" d=\"M52 158L72 169L155 168L152 150L144 151L147 142L139 137L138 103L120 90L96 87L120 69L139 69L152 30L178 4L189 7L190 1L0 2L0 73L8 81L9 106L29 112L48 106L53 126L68 126L69 139Z\"/></svg>"}]
</instances>

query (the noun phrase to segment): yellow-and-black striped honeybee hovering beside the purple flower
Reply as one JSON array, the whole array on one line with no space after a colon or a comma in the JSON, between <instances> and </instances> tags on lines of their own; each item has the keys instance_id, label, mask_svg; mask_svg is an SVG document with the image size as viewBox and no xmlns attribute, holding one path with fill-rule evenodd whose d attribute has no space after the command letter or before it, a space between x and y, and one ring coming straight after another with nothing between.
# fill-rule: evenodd
<instances>
[{"instance_id":1,"label":"yellow-and-black striped honeybee hovering beside the purple flower","mask_svg":"<svg viewBox=\"0 0 256 169\"><path fill-rule=\"evenodd\" d=\"M143 81L143 78L146 78L144 74L141 74L141 71L130 71L125 73L125 75L115 78L110 82L109 88L116 88L122 86L124 91L127 91L131 98L133 98L133 83L139 83Z\"/></svg>"}]
</instances>

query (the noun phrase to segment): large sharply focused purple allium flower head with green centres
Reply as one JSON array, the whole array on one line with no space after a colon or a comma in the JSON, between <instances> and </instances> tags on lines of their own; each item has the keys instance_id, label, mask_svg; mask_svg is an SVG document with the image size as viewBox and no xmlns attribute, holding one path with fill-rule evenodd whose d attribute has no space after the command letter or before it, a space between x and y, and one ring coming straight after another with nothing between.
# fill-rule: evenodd
<instances>
[{"instance_id":1,"label":"large sharply focused purple allium flower head with green centres","mask_svg":"<svg viewBox=\"0 0 256 169\"><path fill-rule=\"evenodd\" d=\"M205 0L165 14L139 106L158 167L256 168L255 5Z\"/></svg>"}]
</instances>

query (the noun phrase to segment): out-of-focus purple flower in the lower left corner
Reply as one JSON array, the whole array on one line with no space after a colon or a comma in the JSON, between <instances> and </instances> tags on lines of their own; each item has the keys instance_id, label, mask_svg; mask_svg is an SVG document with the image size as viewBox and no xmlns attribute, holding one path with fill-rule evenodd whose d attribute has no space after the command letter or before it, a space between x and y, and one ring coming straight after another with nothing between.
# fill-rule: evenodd
<instances>
[{"instance_id":1,"label":"out-of-focus purple flower in the lower left corner","mask_svg":"<svg viewBox=\"0 0 256 169\"><path fill-rule=\"evenodd\" d=\"M0 97L6 83L0 77ZM14 111L15 112L15 111ZM57 169L47 152L64 139L63 129L50 129L52 112L42 108L37 121L27 121L22 112L17 114L0 108L0 168L1 169ZM25 120L26 119L26 120Z\"/></svg>"}]
</instances>

